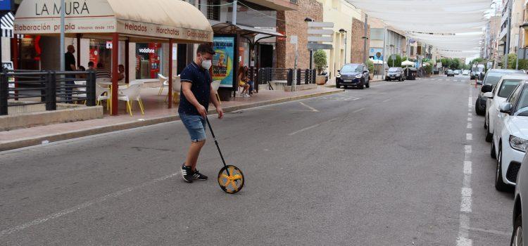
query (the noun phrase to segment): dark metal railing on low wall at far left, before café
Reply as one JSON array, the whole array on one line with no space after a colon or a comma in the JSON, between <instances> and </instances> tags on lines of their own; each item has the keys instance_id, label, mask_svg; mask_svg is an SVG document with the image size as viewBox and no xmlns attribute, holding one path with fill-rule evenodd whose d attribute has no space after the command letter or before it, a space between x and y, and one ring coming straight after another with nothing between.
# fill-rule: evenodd
<instances>
[{"instance_id":1,"label":"dark metal railing on low wall at far left, before caf\u00e9","mask_svg":"<svg viewBox=\"0 0 528 246\"><path fill-rule=\"evenodd\" d=\"M84 81L84 84L75 83ZM56 110L57 103L86 102L96 105L95 72L58 72L5 70L0 74L0 115L8 107L45 104L46 110ZM84 90L82 90L84 88Z\"/></svg>"}]
</instances>

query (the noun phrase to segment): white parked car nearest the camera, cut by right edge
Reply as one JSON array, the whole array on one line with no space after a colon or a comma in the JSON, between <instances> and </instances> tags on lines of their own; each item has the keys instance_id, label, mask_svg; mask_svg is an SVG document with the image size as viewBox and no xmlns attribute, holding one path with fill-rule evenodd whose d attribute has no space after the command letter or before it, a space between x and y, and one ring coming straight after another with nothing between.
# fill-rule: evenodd
<instances>
[{"instance_id":1,"label":"white parked car nearest the camera, cut by right edge","mask_svg":"<svg viewBox=\"0 0 528 246\"><path fill-rule=\"evenodd\" d=\"M521 82L499 109L491 157L497 158L495 188L507 190L508 186L515 186L528 148L528 82Z\"/></svg>"}]
</instances>

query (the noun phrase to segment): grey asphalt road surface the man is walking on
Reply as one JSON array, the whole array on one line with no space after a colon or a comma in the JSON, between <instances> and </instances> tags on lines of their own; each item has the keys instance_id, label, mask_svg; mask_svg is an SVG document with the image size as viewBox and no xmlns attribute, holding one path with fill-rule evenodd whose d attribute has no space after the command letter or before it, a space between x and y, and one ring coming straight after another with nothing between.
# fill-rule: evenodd
<instances>
[{"instance_id":1,"label":"grey asphalt road surface the man is walking on","mask_svg":"<svg viewBox=\"0 0 528 246\"><path fill-rule=\"evenodd\" d=\"M469 82L379 82L213 119L245 174L236 195L214 179L213 141L199 160L213 179L182 181L181 122L0 153L0 245L508 245L513 195L494 189Z\"/></svg>"}]
</instances>

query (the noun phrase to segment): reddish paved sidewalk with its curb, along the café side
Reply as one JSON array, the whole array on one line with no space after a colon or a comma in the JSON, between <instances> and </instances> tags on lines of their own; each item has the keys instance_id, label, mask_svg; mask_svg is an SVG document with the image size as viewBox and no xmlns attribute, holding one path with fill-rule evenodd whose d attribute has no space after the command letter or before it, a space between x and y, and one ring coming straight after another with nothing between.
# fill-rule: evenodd
<instances>
[{"instance_id":1,"label":"reddish paved sidewalk with its curb, along the caf\u00e9 side","mask_svg":"<svg viewBox=\"0 0 528 246\"><path fill-rule=\"evenodd\" d=\"M177 115L177 105L172 109L167 108L163 103L164 96L157 96L159 89L146 89L146 93L155 95L154 97L143 98L145 105L145 115L141 115L137 104L133 105L133 117L125 112L125 104L120 104L118 116L105 115L103 119L91 119L83 122L69 122L63 124L52 124L42 127L32 127L27 129L16 129L13 131L0 131L0 151L13 150L31 145L39 145L56 141L63 141L71 138L80 138L95 134L103 134L111 131L120 131L136 127L144 127L163 122L172 122L180 119ZM330 89L319 86L318 89L284 92L260 90L251 98L234 98L233 101L222 102L224 112L232 112L246 108L255 108L262 105L295 101L303 98L323 96L331 93L339 93L343 89ZM143 95L143 92L142 92ZM156 98L159 97L159 98ZM209 113L214 114L214 107L210 107Z\"/></svg>"}]
</instances>

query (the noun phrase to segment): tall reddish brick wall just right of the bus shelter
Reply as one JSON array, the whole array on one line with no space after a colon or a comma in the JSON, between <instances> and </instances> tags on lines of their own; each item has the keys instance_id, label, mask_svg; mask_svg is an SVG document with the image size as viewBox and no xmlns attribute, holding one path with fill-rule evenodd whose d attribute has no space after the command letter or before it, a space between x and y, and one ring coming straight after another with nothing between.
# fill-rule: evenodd
<instances>
[{"instance_id":1,"label":"tall reddish brick wall just right of the bus shelter","mask_svg":"<svg viewBox=\"0 0 528 246\"><path fill-rule=\"evenodd\" d=\"M277 31L285 34L286 39L277 39L277 67L293 68L295 63L295 45L290 44L292 35L298 36L297 67L310 67L310 51L308 51L308 24L304 21L309 17L314 21L322 21L322 4L316 0L298 0L298 11L277 11ZM282 21L286 20L286 22Z\"/></svg>"}]
</instances>

